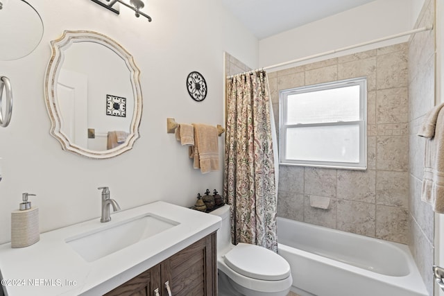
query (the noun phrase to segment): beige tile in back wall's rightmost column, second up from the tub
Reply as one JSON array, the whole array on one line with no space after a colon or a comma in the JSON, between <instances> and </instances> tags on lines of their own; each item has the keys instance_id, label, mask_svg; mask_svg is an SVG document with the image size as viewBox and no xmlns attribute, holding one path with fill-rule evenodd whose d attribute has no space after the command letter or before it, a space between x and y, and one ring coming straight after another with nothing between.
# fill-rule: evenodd
<instances>
[{"instance_id":1,"label":"beige tile in back wall's rightmost column, second up from the tub","mask_svg":"<svg viewBox=\"0 0 444 296\"><path fill-rule=\"evenodd\" d=\"M409 173L378 171L376 203L407 208L409 205Z\"/></svg>"}]
</instances>

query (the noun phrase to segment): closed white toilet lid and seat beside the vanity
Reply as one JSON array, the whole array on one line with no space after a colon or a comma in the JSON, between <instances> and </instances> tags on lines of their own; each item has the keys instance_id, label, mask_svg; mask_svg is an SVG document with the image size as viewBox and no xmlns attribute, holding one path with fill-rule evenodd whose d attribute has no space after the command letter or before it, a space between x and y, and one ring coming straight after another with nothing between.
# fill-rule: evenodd
<instances>
[{"instance_id":1,"label":"closed white toilet lid and seat beside the vanity","mask_svg":"<svg viewBox=\"0 0 444 296\"><path fill-rule=\"evenodd\" d=\"M253 279L278 281L290 275L290 265L285 259L258 245L239 243L225 254L224 261L232 270Z\"/></svg>"}]
</instances>

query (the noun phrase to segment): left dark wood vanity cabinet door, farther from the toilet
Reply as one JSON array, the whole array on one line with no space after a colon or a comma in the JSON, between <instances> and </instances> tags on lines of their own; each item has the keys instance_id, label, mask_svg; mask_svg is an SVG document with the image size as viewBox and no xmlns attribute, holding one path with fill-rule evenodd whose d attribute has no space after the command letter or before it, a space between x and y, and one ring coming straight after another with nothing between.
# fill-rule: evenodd
<instances>
[{"instance_id":1,"label":"left dark wood vanity cabinet door, farther from the toilet","mask_svg":"<svg viewBox=\"0 0 444 296\"><path fill-rule=\"evenodd\" d=\"M159 283L160 264L142 272L114 290L110 290L105 296L155 296L154 290L156 288L159 288L159 291L162 289L159 287Z\"/></svg>"}]
</instances>

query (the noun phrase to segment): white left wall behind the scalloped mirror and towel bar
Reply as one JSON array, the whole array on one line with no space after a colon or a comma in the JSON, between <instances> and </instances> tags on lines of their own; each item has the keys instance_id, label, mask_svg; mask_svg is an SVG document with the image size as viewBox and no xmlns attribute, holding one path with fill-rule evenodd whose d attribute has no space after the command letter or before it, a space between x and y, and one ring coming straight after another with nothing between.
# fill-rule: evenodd
<instances>
[{"instance_id":1,"label":"white left wall behind the scalloped mirror and towel bar","mask_svg":"<svg viewBox=\"0 0 444 296\"><path fill-rule=\"evenodd\" d=\"M10 78L15 98L12 121L0 129L0 243L10 241L10 212L24 192L37 194L31 200L40 207L40 230L46 232L99 217L99 186L110 186L122 209L155 200L189 207L198 192L222 191L223 171L202 175L194 170L187 148L166 132L170 116L184 123L223 124L223 51L257 66L257 39L219 1L150 0L144 11L153 17L151 23L127 8L121 7L118 16L89 0L32 4L44 22L42 42L26 58L0 62L0 75ZM62 150L49 134L44 72L49 42L63 30L103 33L133 54L144 96L141 138L133 150L113 159L87 159ZM185 78L191 71L207 80L203 102L187 94ZM219 144L222 148L223 138Z\"/></svg>"}]
</instances>

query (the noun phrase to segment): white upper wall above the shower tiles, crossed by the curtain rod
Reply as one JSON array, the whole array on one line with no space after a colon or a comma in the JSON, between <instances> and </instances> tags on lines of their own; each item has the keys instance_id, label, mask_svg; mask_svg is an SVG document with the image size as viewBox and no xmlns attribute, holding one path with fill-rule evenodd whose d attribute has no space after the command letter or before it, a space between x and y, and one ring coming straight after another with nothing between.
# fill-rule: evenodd
<instances>
[{"instance_id":1,"label":"white upper wall above the shower tiles, crossed by the curtain rod","mask_svg":"<svg viewBox=\"0 0 444 296\"><path fill-rule=\"evenodd\" d=\"M326 17L265 38L259 41L259 67L268 67L409 31L413 28L422 3L424 0L376 0L332 17ZM409 40L409 36L307 62L376 49L407 40ZM299 64L307 64L307 62ZM292 64L289 67L297 65ZM278 69L284 69L284 67ZM273 71L275 70L273 69Z\"/></svg>"}]
</instances>

